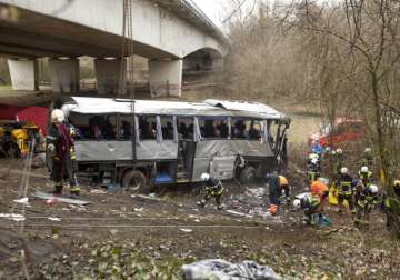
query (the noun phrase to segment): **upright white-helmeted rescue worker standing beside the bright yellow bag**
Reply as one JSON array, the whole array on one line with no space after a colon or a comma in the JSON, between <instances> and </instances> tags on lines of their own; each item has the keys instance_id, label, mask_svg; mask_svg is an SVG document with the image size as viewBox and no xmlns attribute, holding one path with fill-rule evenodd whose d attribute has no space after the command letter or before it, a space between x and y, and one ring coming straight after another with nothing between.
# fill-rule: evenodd
<instances>
[{"instance_id":1,"label":"upright white-helmeted rescue worker standing beside the bright yellow bag","mask_svg":"<svg viewBox=\"0 0 400 280\"><path fill-rule=\"evenodd\" d=\"M347 200L350 210L354 213L352 181L353 180L349 174L348 168L342 167L340 169L339 179L334 183L338 191L338 213L341 213L343 211L344 199Z\"/></svg>"}]
</instances>

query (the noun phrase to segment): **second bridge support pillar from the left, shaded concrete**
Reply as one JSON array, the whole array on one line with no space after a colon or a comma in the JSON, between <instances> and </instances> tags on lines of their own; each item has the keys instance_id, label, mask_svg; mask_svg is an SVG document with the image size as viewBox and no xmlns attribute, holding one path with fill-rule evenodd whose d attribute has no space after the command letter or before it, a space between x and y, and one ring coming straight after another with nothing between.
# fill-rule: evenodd
<instances>
[{"instance_id":1,"label":"second bridge support pillar from the left, shaded concrete","mask_svg":"<svg viewBox=\"0 0 400 280\"><path fill-rule=\"evenodd\" d=\"M79 59L50 59L49 70L53 92L79 92Z\"/></svg>"}]
</instances>

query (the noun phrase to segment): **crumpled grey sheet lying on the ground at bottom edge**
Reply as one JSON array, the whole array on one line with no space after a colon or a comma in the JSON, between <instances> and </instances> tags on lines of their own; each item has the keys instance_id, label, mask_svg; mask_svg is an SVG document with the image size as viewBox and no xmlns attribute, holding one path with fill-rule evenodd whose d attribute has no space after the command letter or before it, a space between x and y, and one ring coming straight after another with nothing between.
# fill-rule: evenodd
<instances>
[{"instance_id":1,"label":"crumpled grey sheet lying on the ground at bottom edge","mask_svg":"<svg viewBox=\"0 0 400 280\"><path fill-rule=\"evenodd\" d=\"M201 260L182 266L187 280L280 280L281 278L267 266L259 266L254 261L231 263L222 259Z\"/></svg>"}]
</instances>

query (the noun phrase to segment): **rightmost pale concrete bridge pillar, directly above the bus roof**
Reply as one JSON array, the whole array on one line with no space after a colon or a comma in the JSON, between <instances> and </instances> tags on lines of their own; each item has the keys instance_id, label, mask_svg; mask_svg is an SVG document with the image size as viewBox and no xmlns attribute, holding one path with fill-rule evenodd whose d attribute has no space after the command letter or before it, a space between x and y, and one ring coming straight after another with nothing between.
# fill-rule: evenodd
<instances>
[{"instance_id":1,"label":"rightmost pale concrete bridge pillar, directly above the bus roof","mask_svg":"<svg viewBox=\"0 0 400 280\"><path fill-rule=\"evenodd\" d=\"M180 97L182 94L181 59L149 60L149 80L151 97Z\"/></svg>"}]
</instances>

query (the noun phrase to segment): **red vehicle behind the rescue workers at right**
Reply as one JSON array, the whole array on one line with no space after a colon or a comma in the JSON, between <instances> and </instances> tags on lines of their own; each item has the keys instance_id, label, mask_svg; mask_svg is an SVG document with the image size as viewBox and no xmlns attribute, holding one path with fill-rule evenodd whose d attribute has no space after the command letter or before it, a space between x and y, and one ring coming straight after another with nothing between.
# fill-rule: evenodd
<instances>
[{"instance_id":1,"label":"red vehicle behind the rescue workers at right","mask_svg":"<svg viewBox=\"0 0 400 280\"><path fill-rule=\"evenodd\" d=\"M359 119L338 118L333 124L323 126L318 132L311 133L308 144L321 147L343 147L361 140L366 134L366 124Z\"/></svg>"}]
</instances>

